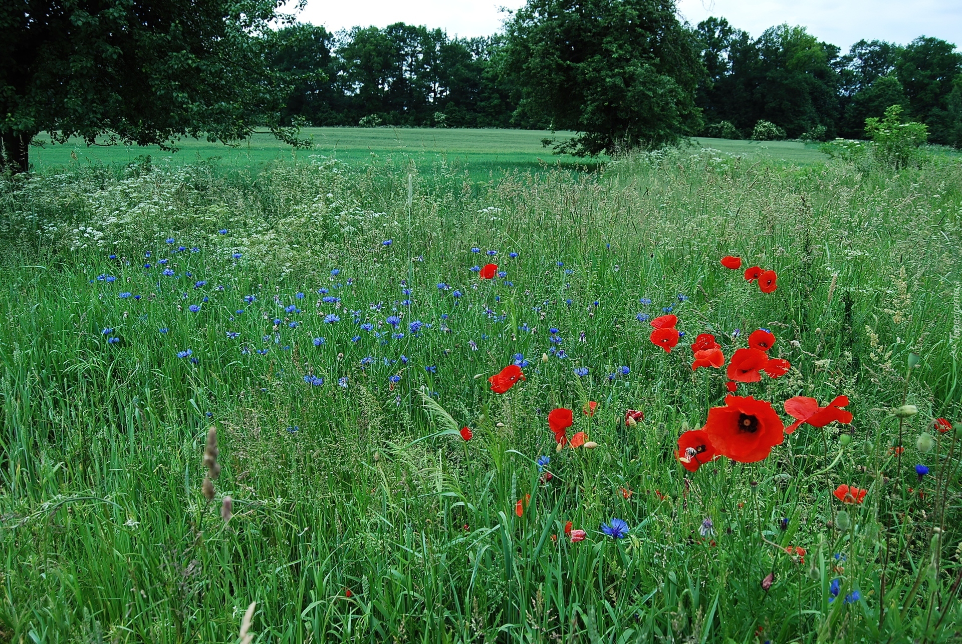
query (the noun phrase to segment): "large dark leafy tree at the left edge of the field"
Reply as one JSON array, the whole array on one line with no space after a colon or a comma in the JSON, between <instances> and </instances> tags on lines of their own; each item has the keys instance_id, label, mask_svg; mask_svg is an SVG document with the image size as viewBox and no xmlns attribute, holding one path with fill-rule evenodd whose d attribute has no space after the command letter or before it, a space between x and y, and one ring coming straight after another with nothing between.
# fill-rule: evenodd
<instances>
[{"instance_id":1,"label":"large dark leafy tree at the left edge of the field","mask_svg":"<svg viewBox=\"0 0 962 644\"><path fill-rule=\"evenodd\" d=\"M275 0L6 0L0 4L0 165L34 136L168 146L275 125L262 51ZM274 128L275 134L285 133Z\"/></svg>"}]
</instances>

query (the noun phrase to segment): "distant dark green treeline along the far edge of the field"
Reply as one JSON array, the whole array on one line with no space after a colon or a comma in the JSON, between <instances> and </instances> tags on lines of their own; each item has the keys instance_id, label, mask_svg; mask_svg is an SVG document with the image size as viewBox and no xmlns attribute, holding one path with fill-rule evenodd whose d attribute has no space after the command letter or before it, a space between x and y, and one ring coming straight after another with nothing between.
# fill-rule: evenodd
<instances>
[{"instance_id":1,"label":"distant dark green treeline along the far edge of the field","mask_svg":"<svg viewBox=\"0 0 962 644\"><path fill-rule=\"evenodd\" d=\"M803 27L775 26L757 38L724 18L681 27L700 62L696 82L679 84L700 109L690 133L747 137L764 120L789 137L857 138L867 117L899 104L928 125L930 141L962 146L962 54L945 40L860 40L843 55ZM294 87L283 111L289 124L557 125L511 62L517 31L450 38L404 23L339 34L297 24L271 37L270 65Z\"/></svg>"}]
</instances>

